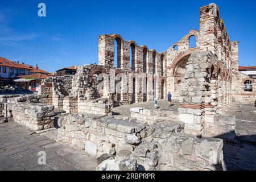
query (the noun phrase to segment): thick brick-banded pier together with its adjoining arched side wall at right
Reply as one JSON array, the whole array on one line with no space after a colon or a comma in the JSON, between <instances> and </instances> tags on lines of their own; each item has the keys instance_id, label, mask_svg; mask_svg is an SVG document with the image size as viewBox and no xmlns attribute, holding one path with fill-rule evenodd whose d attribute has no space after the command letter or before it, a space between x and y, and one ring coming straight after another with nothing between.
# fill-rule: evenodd
<instances>
[{"instance_id":1,"label":"thick brick-banded pier together with its adjoining arched side wall at right","mask_svg":"<svg viewBox=\"0 0 256 182\"><path fill-rule=\"evenodd\" d=\"M234 131L235 120L227 124L218 115L222 113L221 107L230 103L224 84L230 82L230 77L218 69L216 59L207 51L191 53L188 59L179 106L179 119L185 123L187 134L216 137Z\"/></svg>"}]
</instances>

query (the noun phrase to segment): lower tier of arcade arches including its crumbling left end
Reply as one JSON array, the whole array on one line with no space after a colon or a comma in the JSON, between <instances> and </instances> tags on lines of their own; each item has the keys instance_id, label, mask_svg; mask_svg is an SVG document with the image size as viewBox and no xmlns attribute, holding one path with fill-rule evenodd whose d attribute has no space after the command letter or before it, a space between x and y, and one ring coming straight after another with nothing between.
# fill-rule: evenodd
<instances>
[{"instance_id":1,"label":"lower tier of arcade arches including its crumbling left end","mask_svg":"<svg viewBox=\"0 0 256 182\"><path fill-rule=\"evenodd\" d=\"M88 64L78 67L72 80L72 95L79 96L79 100L108 98L117 106L165 98L165 86L164 76Z\"/></svg>"}]
</instances>

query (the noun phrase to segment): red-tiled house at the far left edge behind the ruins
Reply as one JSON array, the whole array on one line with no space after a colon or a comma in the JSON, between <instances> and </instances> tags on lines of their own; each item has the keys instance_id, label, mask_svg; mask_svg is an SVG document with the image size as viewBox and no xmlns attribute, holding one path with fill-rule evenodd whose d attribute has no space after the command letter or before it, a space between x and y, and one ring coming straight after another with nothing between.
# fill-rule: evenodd
<instances>
[{"instance_id":1,"label":"red-tiled house at the far left edge behind the ruins","mask_svg":"<svg viewBox=\"0 0 256 182\"><path fill-rule=\"evenodd\" d=\"M37 65L33 67L25 63L20 64L19 61L15 62L0 57L0 86L11 84L11 81L16 77L37 73L48 75L49 72L39 69Z\"/></svg>"}]
</instances>

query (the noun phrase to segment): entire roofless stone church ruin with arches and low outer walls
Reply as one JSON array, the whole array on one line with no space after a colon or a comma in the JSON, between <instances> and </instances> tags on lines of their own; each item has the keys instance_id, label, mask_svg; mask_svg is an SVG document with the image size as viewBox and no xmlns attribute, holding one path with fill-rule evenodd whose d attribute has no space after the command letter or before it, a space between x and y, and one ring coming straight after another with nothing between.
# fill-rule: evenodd
<instances>
[{"instance_id":1,"label":"entire roofless stone church ruin with arches and low outer walls","mask_svg":"<svg viewBox=\"0 0 256 182\"><path fill-rule=\"evenodd\" d=\"M200 30L164 52L118 34L101 35L98 64L46 78L38 94L1 98L2 112L32 130L53 127L59 115L57 141L101 159L99 170L109 163L120 170L225 170L223 139L236 139L236 117L225 109L256 101L255 81L238 71L238 44L211 3L200 9ZM243 88L246 81L251 92ZM113 112L166 100L168 92L179 102L176 110Z\"/></svg>"}]
</instances>

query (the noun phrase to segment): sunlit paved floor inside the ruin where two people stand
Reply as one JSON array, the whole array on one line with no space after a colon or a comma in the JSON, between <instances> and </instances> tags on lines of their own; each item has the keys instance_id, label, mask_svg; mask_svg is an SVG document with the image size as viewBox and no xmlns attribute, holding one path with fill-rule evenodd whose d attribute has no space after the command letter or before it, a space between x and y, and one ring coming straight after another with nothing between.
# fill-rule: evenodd
<instances>
[{"instance_id":1,"label":"sunlit paved floor inside the ruin where two people stand","mask_svg":"<svg viewBox=\"0 0 256 182\"><path fill-rule=\"evenodd\" d=\"M154 109L154 101L150 102L140 102L136 104L131 104L131 105L123 105L119 107L114 107L112 109L114 115L118 115L118 117L123 117L123 116L130 116L130 109L133 107L143 107L145 109ZM167 100L159 100L158 101L158 109L166 109L166 110L174 110L177 111L177 108L179 107L179 101L178 100L173 100L172 105L169 107L168 106L168 101Z\"/></svg>"}]
</instances>

